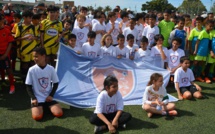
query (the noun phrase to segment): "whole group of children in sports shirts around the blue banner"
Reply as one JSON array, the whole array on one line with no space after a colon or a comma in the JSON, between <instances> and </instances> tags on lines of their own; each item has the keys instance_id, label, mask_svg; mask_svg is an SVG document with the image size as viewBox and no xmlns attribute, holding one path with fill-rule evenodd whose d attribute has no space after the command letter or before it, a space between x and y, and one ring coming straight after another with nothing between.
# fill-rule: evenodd
<instances>
[{"instance_id":1,"label":"whole group of children in sports shirts around the blue banner","mask_svg":"<svg viewBox=\"0 0 215 134\"><path fill-rule=\"evenodd\" d=\"M31 98L32 117L35 120L42 119L44 106L49 107L56 117L63 115L60 105L53 101L58 87L58 77L53 66L59 42L90 58L113 56L118 59L144 60L151 57L151 63L170 72L180 100L190 99L192 96L202 98L201 88L193 83L194 80L206 83L215 80L212 74L215 62L215 31L212 20L208 20L203 26L203 18L197 17L196 27L188 34L184 30L186 19L179 18L175 26L170 21L171 13L168 10L164 12L164 19L159 24L156 24L157 18L154 14L149 14L148 22L143 25L141 14L128 19L125 12L121 13L119 22L117 10L108 13L108 22L105 24L106 15L103 12L97 12L97 18L90 21L86 17L87 8L82 7L71 30L71 20L65 19L62 24L58 20L58 10L59 8L53 5L49 6L47 18L43 20L29 10L24 11L22 17L15 14L12 29L14 37L4 26L4 18L0 16L2 80L6 70L10 81L10 93L14 93L14 66L10 66L9 52L15 44L17 56L21 61L22 78ZM177 115L175 105L168 102L161 74L151 75L143 93L142 108L148 113L148 117L153 114ZM130 119L131 115L123 112L118 80L108 76L104 80L104 90L97 98L90 123L96 125L95 132L108 128L111 133L115 133L117 127L125 127Z\"/></svg>"}]
</instances>

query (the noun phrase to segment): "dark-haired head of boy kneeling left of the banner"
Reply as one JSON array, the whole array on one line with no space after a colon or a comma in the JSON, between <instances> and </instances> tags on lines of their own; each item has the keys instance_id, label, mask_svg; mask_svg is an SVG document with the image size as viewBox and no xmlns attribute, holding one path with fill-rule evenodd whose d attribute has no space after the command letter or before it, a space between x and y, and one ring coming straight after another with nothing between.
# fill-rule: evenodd
<instances>
[{"instance_id":1,"label":"dark-haired head of boy kneeling left of the banner","mask_svg":"<svg viewBox=\"0 0 215 134\"><path fill-rule=\"evenodd\" d=\"M34 62L39 66L46 65L46 50L44 47L36 47L33 50Z\"/></svg>"}]
</instances>

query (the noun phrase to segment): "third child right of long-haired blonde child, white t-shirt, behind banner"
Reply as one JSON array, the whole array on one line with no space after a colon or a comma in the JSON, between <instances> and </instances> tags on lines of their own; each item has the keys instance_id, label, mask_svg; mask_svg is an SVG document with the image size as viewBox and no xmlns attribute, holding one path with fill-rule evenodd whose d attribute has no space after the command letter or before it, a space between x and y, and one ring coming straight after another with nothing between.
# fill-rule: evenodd
<instances>
[{"instance_id":1,"label":"third child right of long-haired blonde child, white t-shirt, behind banner","mask_svg":"<svg viewBox=\"0 0 215 134\"><path fill-rule=\"evenodd\" d=\"M146 36L143 36L141 43L140 43L140 47L138 49L138 51L135 53L135 59L145 59L146 57L150 56L151 51L149 49L147 49L148 46L148 39L146 38Z\"/></svg>"}]
</instances>

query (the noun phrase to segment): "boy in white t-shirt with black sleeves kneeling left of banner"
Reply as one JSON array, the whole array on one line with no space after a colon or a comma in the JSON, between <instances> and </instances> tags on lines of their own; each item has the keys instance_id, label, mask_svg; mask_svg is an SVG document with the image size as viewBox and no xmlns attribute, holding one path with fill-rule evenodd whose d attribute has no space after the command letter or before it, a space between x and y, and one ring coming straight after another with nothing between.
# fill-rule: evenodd
<instances>
[{"instance_id":1,"label":"boy in white t-shirt with black sleeves kneeling left of banner","mask_svg":"<svg viewBox=\"0 0 215 134\"><path fill-rule=\"evenodd\" d=\"M54 68L46 63L45 48L35 48L33 59L36 65L29 69L25 81L27 92L31 98L32 118L34 120L42 119L43 107L49 107L55 117L61 117L63 111L60 105L53 101L59 80ZM53 87L51 83L53 83Z\"/></svg>"}]
</instances>

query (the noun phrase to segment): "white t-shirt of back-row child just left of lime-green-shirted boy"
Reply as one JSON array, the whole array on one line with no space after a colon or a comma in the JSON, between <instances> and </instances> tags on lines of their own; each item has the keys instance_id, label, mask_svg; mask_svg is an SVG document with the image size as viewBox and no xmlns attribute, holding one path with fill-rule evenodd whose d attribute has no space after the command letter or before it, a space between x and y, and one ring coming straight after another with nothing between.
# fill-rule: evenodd
<instances>
[{"instance_id":1,"label":"white t-shirt of back-row child just left of lime-green-shirted boy","mask_svg":"<svg viewBox=\"0 0 215 134\"><path fill-rule=\"evenodd\" d=\"M159 28L158 26L154 26L151 28L150 25L146 26L143 30L143 34L142 36L146 36L146 38L148 39L148 48L150 48L150 46L155 42L154 41L154 36L159 34Z\"/></svg>"}]
</instances>

